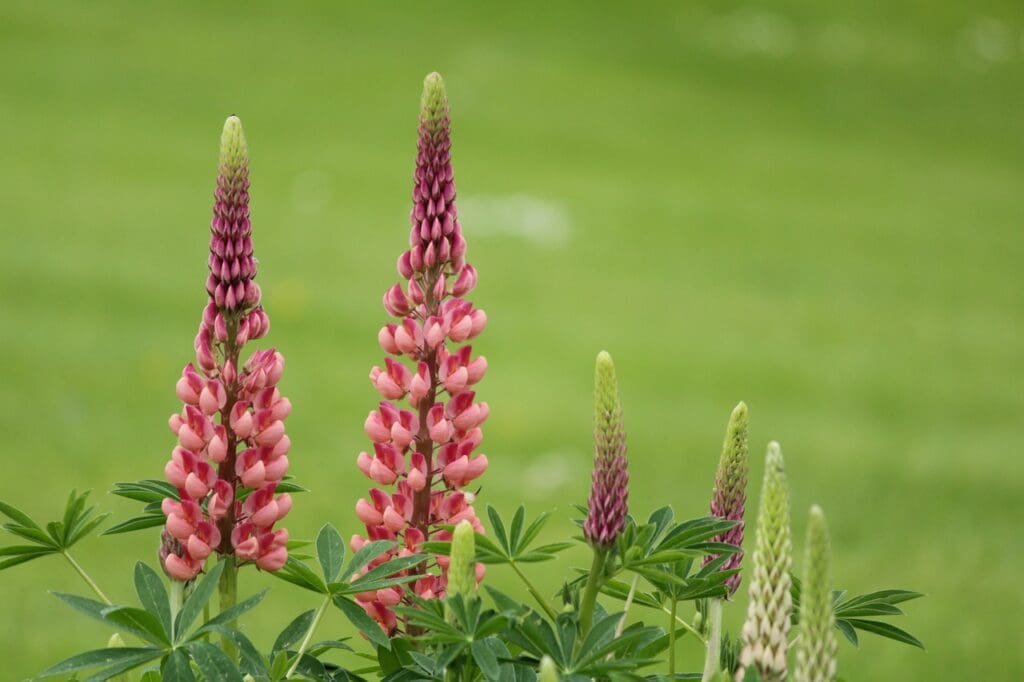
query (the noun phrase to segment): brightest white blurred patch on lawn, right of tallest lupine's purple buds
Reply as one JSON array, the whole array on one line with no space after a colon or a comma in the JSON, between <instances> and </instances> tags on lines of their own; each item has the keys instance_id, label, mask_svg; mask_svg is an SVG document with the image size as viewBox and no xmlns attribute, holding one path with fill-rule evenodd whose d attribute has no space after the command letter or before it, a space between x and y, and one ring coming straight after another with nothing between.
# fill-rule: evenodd
<instances>
[{"instance_id":1,"label":"brightest white blurred patch on lawn, right of tallest lupine's purple buds","mask_svg":"<svg viewBox=\"0 0 1024 682\"><path fill-rule=\"evenodd\" d=\"M511 236L553 249L569 238L571 219L562 205L531 195L459 198L459 222L472 236Z\"/></svg>"}]
</instances>

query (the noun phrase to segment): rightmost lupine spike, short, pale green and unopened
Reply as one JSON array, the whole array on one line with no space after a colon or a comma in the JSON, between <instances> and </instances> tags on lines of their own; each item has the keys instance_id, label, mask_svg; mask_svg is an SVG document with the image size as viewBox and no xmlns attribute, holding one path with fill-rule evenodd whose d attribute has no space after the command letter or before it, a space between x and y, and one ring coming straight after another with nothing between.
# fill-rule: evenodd
<instances>
[{"instance_id":1,"label":"rightmost lupine spike, short, pale green and unopened","mask_svg":"<svg viewBox=\"0 0 1024 682\"><path fill-rule=\"evenodd\" d=\"M800 644L797 682L836 679L836 616L833 613L831 552L821 507L811 507L804 550L804 586L800 594Z\"/></svg>"}]
</instances>

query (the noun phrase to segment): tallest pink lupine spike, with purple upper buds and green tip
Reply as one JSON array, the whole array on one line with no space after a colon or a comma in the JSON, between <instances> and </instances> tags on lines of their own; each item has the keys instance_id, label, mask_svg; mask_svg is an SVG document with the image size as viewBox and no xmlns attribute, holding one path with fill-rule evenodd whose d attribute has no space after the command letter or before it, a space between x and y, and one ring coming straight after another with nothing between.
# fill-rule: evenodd
<instances>
[{"instance_id":1,"label":"tallest pink lupine spike, with purple upper buds and green tip","mask_svg":"<svg viewBox=\"0 0 1024 682\"><path fill-rule=\"evenodd\" d=\"M411 248L398 259L398 272L408 284L396 284L384 294L384 308L397 322L385 325L378 335L385 352L412 361L386 357L384 367L370 373L384 399L364 424L372 452L357 459L364 474L393 492L375 487L358 501L355 514L367 532L351 540L353 551L370 540L394 540L398 547L367 569L417 553L427 540L449 540L443 525L465 519L477 532L483 531L473 510L474 495L466 488L487 468L486 455L474 452L483 438L480 425L488 409L486 402L475 401L473 390L487 361L473 357L471 346L458 344L482 332L487 317L462 298L476 286L476 270L466 262L451 147L444 83L430 74L420 112ZM395 403L403 398L411 410ZM442 597L446 557L437 564L418 567L422 578L406 590L423 598ZM483 564L476 566L476 576L483 578ZM399 624L391 607L403 600L408 592L401 588L358 595L367 612L392 634Z\"/></svg>"}]
</instances>

